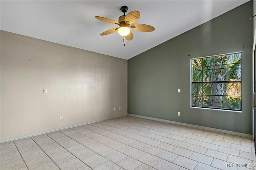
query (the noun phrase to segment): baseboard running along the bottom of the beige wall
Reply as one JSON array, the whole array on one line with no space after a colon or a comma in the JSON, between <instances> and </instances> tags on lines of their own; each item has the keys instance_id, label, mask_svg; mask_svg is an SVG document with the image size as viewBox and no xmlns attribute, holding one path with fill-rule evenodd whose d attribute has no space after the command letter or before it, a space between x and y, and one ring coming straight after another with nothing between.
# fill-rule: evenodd
<instances>
[{"instance_id":1,"label":"baseboard running along the bottom of the beige wall","mask_svg":"<svg viewBox=\"0 0 256 170\"><path fill-rule=\"evenodd\" d=\"M123 117L123 116L127 116L127 114L120 115L120 116L117 116L117 117ZM98 120L95 120L95 121L89 121L89 122L84 122L84 123L79 123L79 124L75 124L75 125L59 127L59 128L52 128L52 129L48 129L48 130L44 130L44 131L40 131L40 132L24 134L24 135L20 135L20 136L11 137L11 138L0 139L0 143L9 142L9 141L12 141L12 140L18 140L18 139L22 139L22 138L28 138L28 137L37 136L37 135L40 135L40 134L50 133L50 132L63 130L63 129L67 129L67 128L72 128L72 127L78 127L78 126L87 125L87 124L91 124L91 123L96 123L96 122L100 122L100 121L106 121L108 119L114 119L114 118L117 118L117 117L98 119Z\"/></svg>"}]
</instances>

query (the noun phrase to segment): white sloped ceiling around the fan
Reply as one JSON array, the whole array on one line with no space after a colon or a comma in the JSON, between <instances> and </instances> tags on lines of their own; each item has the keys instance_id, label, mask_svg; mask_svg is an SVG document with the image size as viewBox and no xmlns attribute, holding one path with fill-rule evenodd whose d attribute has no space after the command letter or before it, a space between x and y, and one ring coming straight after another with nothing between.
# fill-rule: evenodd
<instances>
[{"instance_id":1,"label":"white sloped ceiling around the fan","mask_svg":"<svg viewBox=\"0 0 256 170\"><path fill-rule=\"evenodd\" d=\"M248 0L1 0L0 29L130 59L245 2ZM125 47L118 32L100 36L115 28L115 24L94 18L102 16L118 21L123 15L120 7L124 5L128 6L128 12L140 12L140 19L135 24L155 27L154 32L133 30L134 39L126 41Z\"/></svg>"}]
</instances>

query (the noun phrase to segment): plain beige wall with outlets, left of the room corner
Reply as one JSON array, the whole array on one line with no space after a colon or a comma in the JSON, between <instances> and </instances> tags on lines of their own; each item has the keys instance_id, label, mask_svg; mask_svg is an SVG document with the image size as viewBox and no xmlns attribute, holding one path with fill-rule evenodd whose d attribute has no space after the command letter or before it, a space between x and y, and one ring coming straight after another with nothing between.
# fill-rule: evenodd
<instances>
[{"instance_id":1,"label":"plain beige wall with outlets, left of the room corner","mask_svg":"<svg viewBox=\"0 0 256 170\"><path fill-rule=\"evenodd\" d=\"M0 43L1 141L127 114L127 60L4 31Z\"/></svg>"}]
</instances>

